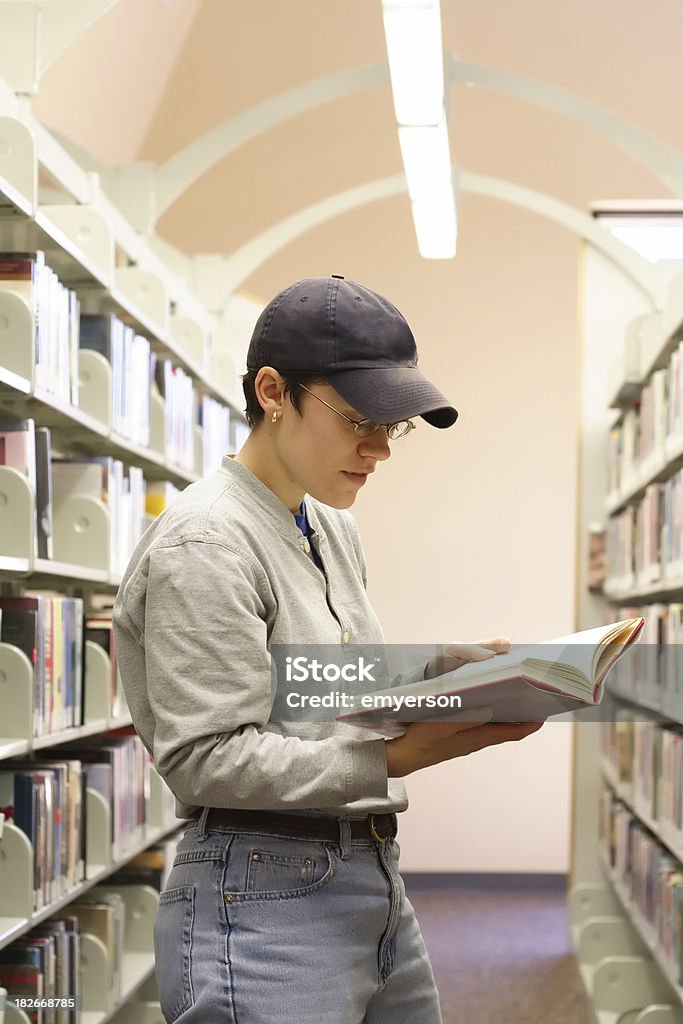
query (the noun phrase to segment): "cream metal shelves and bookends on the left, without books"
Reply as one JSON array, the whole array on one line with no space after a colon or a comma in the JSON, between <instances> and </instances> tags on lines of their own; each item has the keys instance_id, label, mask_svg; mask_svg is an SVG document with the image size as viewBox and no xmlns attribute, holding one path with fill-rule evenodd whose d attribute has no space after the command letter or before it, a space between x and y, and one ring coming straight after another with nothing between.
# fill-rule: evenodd
<instances>
[{"instance_id":1,"label":"cream metal shelves and bookends on the left, without books","mask_svg":"<svg viewBox=\"0 0 683 1024\"><path fill-rule=\"evenodd\" d=\"M244 431L242 399L229 358L223 352L218 357L213 347L223 341L219 317L202 306L126 222L100 190L97 176L82 170L33 119L27 104L4 83L0 86L0 143L8 143L0 174L0 251L43 251L59 281L77 293L82 312L115 314L148 340L158 359L169 359L188 375L200 396L227 407L233 443ZM16 295L0 291L0 420L33 420L37 427L49 428L57 453L112 457L138 467L147 481L183 487L203 475L201 429L195 427L190 438L191 467L180 465L168 444L170 412L158 395L151 399L148 443L114 429L113 368L97 353L78 353L78 404L42 386L36 366L32 309ZM86 610L96 610L96 599L102 596L113 600L121 569L113 564L108 543L110 511L95 500L62 500L58 509L55 504L52 558L38 556L35 530L27 527L35 516L36 495L27 479L0 466L0 595L58 592L78 597ZM18 648L0 642L0 772L17 761L28 768L34 761L40 764L65 743L117 730L122 736L130 727L125 708L111 714L109 656L85 637L84 643L83 724L36 736L33 666ZM134 857L176 836L180 826L169 791L154 768L150 772L148 817L130 833L114 831L119 836L114 848L109 843L114 805L95 788L85 790L84 877L66 889L55 883L57 891L39 908L34 850L26 834L0 816L0 950L87 894L118 895L125 904L120 987L115 993L108 990L105 947L82 932L82 1010L74 1017L80 1024L163 1024L154 982L158 892L142 884L112 881ZM0 998L1 1024L28 1021L27 1013L11 1002L4 1006Z\"/></svg>"}]
</instances>

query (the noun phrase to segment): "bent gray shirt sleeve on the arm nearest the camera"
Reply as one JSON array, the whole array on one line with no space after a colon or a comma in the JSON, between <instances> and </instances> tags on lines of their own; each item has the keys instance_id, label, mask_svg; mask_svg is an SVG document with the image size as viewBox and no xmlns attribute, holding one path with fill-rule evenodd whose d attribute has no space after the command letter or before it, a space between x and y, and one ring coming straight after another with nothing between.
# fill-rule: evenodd
<instances>
[{"instance_id":1,"label":"bent gray shirt sleeve on the arm nearest the camera","mask_svg":"<svg viewBox=\"0 0 683 1024\"><path fill-rule=\"evenodd\" d=\"M220 543L151 553L144 665L158 771L178 800L199 806L287 810L385 797L383 739L264 731L270 655L257 577Z\"/></svg>"}]
</instances>

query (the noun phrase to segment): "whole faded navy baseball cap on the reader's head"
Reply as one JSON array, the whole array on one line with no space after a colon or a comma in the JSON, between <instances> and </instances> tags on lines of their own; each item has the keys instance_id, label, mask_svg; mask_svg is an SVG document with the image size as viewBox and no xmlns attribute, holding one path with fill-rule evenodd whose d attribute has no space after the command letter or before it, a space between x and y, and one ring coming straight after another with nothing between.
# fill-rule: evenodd
<instances>
[{"instance_id":1,"label":"whole faded navy baseball cap on the reader's head","mask_svg":"<svg viewBox=\"0 0 683 1024\"><path fill-rule=\"evenodd\" d=\"M388 299L333 273L306 278L262 311L247 369L319 375L368 420L421 416L451 427L458 412L421 370L405 317Z\"/></svg>"}]
</instances>

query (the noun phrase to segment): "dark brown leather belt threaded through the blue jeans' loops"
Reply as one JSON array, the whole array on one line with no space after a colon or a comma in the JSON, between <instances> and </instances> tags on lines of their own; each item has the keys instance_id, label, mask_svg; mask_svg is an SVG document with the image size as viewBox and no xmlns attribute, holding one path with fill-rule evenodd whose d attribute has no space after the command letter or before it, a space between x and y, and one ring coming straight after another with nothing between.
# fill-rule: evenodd
<instances>
[{"instance_id":1,"label":"dark brown leather belt threaded through the blue jeans' loops","mask_svg":"<svg viewBox=\"0 0 683 1024\"><path fill-rule=\"evenodd\" d=\"M281 814L275 811L237 811L212 807L207 828L234 828L238 831L265 833L293 839L313 839L338 843L340 818L317 818L298 814ZM387 843L396 835L398 825L395 814L369 814L367 818L349 818L351 840L372 840Z\"/></svg>"}]
</instances>

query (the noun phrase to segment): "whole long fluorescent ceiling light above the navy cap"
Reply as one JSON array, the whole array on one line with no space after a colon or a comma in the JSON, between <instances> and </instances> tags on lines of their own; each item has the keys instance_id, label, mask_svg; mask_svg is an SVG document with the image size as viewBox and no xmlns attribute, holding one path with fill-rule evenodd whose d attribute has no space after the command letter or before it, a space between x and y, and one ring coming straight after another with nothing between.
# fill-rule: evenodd
<instances>
[{"instance_id":1,"label":"whole long fluorescent ceiling light above the navy cap","mask_svg":"<svg viewBox=\"0 0 683 1024\"><path fill-rule=\"evenodd\" d=\"M439 0L382 0L394 111L420 255L452 259L457 216Z\"/></svg>"}]
</instances>

